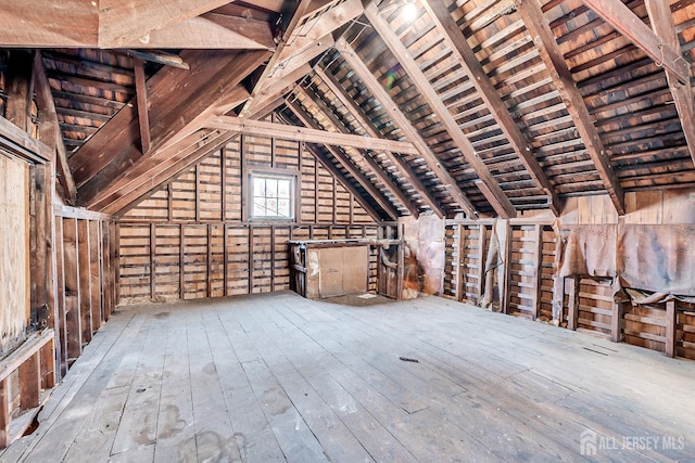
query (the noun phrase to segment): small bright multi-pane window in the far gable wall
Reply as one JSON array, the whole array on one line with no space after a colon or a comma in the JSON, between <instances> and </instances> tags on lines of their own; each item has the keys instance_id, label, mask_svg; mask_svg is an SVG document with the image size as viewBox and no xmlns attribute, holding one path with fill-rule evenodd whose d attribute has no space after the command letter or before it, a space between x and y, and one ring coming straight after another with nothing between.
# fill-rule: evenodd
<instances>
[{"instance_id":1,"label":"small bright multi-pane window in the far gable wall","mask_svg":"<svg viewBox=\"0 0 695 463\"><path fill-rule=\"evenodd\" d=\"M292 178L252 176L253 217L292 218Z\"/></svg>"}]
</instances>

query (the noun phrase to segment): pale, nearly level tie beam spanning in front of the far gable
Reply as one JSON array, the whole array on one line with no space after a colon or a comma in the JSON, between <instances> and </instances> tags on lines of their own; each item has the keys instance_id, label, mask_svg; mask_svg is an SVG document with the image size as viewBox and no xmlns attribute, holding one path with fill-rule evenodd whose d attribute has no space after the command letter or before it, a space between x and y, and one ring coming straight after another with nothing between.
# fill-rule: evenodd
<instances>
[{"instance_id":1,"label":"pale, nearly level tie beam spanning in front of the far gable","mask_svg":"<svg viewBox=\"0 0 695 463\"><path fill-rule=\"evenodd\" d=\"M280 140L304 141L308 143L353 146L363 150L392 150L414 154L415 147L407 142L375 139L352 133L328 132L308 127L287 126L283 124L252 120L244 117L220 116L205 123L213 129L233 130L239 133L275 137Z\"/></svg>"}]
</instances>

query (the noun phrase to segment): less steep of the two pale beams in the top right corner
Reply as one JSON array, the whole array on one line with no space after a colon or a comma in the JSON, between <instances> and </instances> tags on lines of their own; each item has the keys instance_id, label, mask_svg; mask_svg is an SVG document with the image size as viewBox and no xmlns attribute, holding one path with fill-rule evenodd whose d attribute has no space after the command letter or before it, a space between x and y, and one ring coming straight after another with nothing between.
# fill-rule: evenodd
<instances>
[{"instance_id":1,"label":"less steep of the two pale beams in the top right corner","mask_svg":"<svg viewBox=\"0 0 695 463\"><path fill-rule=\"evenodd\" d=\"M644 50L646 54L665 69L673 73L681 83L690 81L690 63L680 52L680 47L674 48L668 41L654 34L649 26L626 7L620 0L582 0L584 4L596 12L604 21L616 28L628 40ZM672 16L667 0L660 0L664 9L660 14ZM649 14L650 15L650 14ZM660 21L668 20L661 17ZM654 21L653 21L654 23ZM673 27L671 26L671 29ZM675 33L673 33L675 34ZM677 40L678 42L678 40Z\"/></svg>"}]
</instances>

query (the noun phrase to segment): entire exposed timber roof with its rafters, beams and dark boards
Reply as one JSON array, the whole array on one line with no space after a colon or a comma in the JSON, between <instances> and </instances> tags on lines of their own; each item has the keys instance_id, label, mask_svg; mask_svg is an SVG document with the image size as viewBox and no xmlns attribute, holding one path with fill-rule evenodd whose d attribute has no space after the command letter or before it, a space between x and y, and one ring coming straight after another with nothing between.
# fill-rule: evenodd
<instances>
[{"instance_id":1,"label":"entire exposed timber roof with its rafters, beams and dark boards","mask_svg":"<svg viewBox=\"0 0 695 463\"><path fill-rule=\"evenodd\" d=\"M118 214L275 112L340 140L312 151L377 219L622 214L695 184L695 0L667 3L8 0L0 44L38 49L80 206Z\"/></svg>"}]
</instances>

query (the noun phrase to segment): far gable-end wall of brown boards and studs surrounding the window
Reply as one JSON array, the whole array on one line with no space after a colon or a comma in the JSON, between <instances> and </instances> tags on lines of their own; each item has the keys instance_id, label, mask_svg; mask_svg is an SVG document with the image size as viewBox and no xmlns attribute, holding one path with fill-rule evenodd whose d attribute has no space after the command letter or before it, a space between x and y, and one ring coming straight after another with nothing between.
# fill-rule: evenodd
<instances>
[{"instance_id":1,"label":"far gable-end wall of brown boards and studs surrounding the window","mask_svg":"<svg viewBox=\"0 0 695 463\"><path fill-rule=\"evenodd\" d=\"M298 172L298 223L244 218L244 176L280 168ZM129 209L119 228L124 301L285 290L290 284L290 237L377 234L374 220L302 143L255 136L232 140L172 179ZM370 260L372 290L377 268Z\"/></svg>"}]
</instances>

